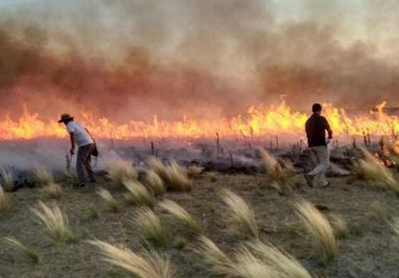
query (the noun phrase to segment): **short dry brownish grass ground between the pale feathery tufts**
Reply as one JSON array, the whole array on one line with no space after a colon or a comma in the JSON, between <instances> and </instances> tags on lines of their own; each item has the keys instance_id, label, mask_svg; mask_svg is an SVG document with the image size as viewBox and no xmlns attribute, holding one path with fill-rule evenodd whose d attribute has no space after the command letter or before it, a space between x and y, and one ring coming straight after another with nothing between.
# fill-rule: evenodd
<instances>
[{"instance_id":1,"label":"short dry brownish grass ground between the pale feathery tufts","mask_svg":"<svg viewBox=\"0 0 399 278\"><path fill-rule=\"evenodd\" d=\"M234 257L237 249L251 239L234 229L223 189L231 190L250 205L259 240L284 249L312 277L398 277L399 243L395 239L399 236L390 225L390 220L399 216L398 197L351 177L330 180L331 187L311 189L299 177L291 194L280 195L263 175L203 173L194 179L192 191L166 192L161 199L172 200L190 212L202 226L203 234L229 257ZM103 262L98 249L88 243L88 240L102 240L138 253L152 249L143 240L142 230L135 221L140 208L126 200L127 190L104 178L77 190L66 180L56 182L62 187L62 195L56 199L41 188L6 193L11 200L11 211L0 212L0 237L18 240L40 259L34 263L24 252L1 240L0 277L130 277L122 269ZM110 192L119 210L110 210L97 193L100 188ZM46 205L58 205L65 213L71 230L68 242L58 244L43 231L31 210L40 200ZM346 222L347 231L337 233L338 254L331 262L323 262L321 255L315 253L312 237L296 208L303 200L321 207L331 225L334 215L340 215ZM162 247L153 248L170 258L175 277L223 277L212 272L212 267L195 252L199 244L197 235L162 210L159 202L155 202L154 212L167 228L168 237Z\"/></svg>"}]
</instances>

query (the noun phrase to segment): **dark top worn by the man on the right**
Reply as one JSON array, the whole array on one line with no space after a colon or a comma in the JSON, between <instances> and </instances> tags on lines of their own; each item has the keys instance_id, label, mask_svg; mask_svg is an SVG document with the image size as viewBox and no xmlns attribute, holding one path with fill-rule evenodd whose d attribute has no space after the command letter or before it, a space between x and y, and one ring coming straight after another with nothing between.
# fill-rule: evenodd
<instances>
[{"instance_id":1,"label":"dark top worn by the man on the right","mask_svg":"<svg viewBox=\"0 0 399 278\"><path fill-rule=\"evenodd\" d=\"M308 138L309 148L327 146L326 130L328 132L328 138L333 138L333 130L331 130L328 121L323 116L313 114L306 120L306 136Z\"/></svg>"}]
</instances>

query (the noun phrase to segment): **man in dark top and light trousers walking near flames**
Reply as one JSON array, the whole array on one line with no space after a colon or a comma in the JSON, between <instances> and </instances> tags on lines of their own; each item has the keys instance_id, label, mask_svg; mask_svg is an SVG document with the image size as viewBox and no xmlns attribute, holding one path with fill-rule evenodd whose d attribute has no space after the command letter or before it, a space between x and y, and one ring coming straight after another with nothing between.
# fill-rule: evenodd
<instances>
[{"instance_id":1,"label":"man in dark top and light trousers walking near flames","mask_svg":"<svg viewBox=\"0 0 399 278\"><path fill-rule=\"evenodd\" d=\"M313 115L306 121L306 136L308 138L308 145L311 152L316 155L317 166L314 170L305 175L306 182L310 187L313 187L314 177L320 178L321 185L328 187L330 183L326 180L326 170L329 164L329 154L327 145L333 138L333 130L326 118L321 115L321 104L315 103L312 107ZM326 139L326 130L328 132L328 139Z\"/></svg>"}]
</instances>

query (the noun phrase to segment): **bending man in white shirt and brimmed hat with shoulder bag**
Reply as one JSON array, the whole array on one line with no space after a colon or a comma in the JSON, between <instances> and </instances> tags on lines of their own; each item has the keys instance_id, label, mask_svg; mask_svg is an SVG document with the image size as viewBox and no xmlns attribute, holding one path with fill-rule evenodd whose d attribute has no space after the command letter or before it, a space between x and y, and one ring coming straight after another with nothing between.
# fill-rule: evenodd
<instances>
[{"instance_id":1,"label":"bending man in white shirt and brimmed hat with shoulder bag","mask_svg":"<svg viewBox=\"0 0 399 278\"><path fill-rule=\"evenodd\" d=\"M69 151L71 155L75 153L75 145L78 145L78 158L76 158L76 171L79 178L78 187L85 186L85 170L90 177L90 182L95 182L90 166L91 154L95 149L95 143L90 133L67 113L61 115L61 120L58 120L58 123L66 125L71 138L71 150Z\"/></svg>"}]
</instances>

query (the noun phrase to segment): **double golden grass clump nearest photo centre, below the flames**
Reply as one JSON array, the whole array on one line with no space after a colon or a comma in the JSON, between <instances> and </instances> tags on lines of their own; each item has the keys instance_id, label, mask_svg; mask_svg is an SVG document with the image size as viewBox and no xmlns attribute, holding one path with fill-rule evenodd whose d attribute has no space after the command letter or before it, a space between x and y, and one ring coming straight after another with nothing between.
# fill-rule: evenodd
<instances>
[{"instance_id":1,"label":"double golden grass clump nearest photo centre, below the flames","mask_svg":"<svg viewBox=\"0 0 399 278\"><path fill-rule=\"evenodd\" d=\"M157 158L150 158L147 161L148 168L153 170L170 190L190 191L192 181L187 177L187 171L180 167L175 161L170 165L163 165Z\"/></svg>"}]
</instances>

